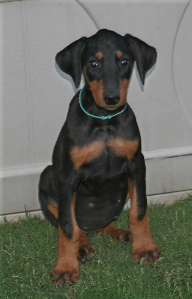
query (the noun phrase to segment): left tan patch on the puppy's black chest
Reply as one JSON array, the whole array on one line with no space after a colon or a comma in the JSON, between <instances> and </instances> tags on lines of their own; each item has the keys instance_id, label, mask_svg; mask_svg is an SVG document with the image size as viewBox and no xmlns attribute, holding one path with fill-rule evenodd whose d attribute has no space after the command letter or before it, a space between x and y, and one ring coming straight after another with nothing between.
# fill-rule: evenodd
<instances>
[{"instance_id":1,"label":"left tan patch on the puppy's black chest","mask_svg":"<svg viewBox=\"0 0 192 299\"><path fill-rule=\"evenodd\" d=\"M73 161L75 169L79 169L82 164L91 162L94 158L98 157L105 149L103 141L94 141L84 147L73 147L70 150L70 156Z\"/></svg>"}]
</instances>

